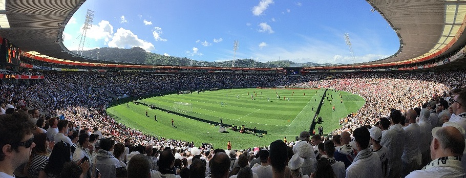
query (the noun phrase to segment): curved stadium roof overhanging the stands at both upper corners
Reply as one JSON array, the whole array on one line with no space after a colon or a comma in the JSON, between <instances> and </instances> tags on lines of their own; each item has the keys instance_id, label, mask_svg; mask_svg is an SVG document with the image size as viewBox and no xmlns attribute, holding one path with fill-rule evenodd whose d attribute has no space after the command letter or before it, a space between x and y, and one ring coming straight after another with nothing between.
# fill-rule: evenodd
<instances>
[{"instance_id":1,"label":"curved stadium roof overhanging the stands at both upper corners","mask_svg":"<svg viewBox=\"0 0 466 178\"><path fill-rule=\"evenodd\" d=\"M80 57L67 50L62 43L61 35L66 24L85 1L0 0L0 36L33 55L102 63L101 60ZM466 43L463 33L466 1L367 2L373 6L373 11L382 14L397 32L400 37L400 49L386 59L364 64L417 61L432 54L439 54L439 51L443 52L442 54L451 53ZM450 47L450 50L445 51L446 47Z\"/></svg>"}]
</instances>

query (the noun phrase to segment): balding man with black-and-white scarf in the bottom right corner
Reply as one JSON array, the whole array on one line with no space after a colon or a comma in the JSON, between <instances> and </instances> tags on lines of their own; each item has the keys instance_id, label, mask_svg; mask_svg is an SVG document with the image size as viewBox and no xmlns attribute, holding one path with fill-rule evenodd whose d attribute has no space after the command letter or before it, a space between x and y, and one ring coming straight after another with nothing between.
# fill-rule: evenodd
<instances>
[{"instance_id":1,"label":"balding man with black-and-white scarf in the bottom right corner","mask_svg":"<svg viewBox=\"0 0 466 178\"><path fill-rule=\"evenodd\" d=\"M464 129L456 123L444 123L432 129L432 162L408 174L414 177L466 177L461 163L464 152Z\"/></svg>"}]
</instances>

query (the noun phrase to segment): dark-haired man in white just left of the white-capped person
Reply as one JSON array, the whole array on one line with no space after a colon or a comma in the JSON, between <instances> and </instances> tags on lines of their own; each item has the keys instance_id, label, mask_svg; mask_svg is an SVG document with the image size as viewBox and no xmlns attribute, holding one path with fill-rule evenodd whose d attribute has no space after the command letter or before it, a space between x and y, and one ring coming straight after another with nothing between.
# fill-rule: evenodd
<instances>
[{"instance_id":1,"label":"dark-haired man in white just left of the white-capped person","mask_svg":"<svg viewBox=\"0 0 466 178\"><path fill-rule=\"evenodd\" d=\"M369 147L370 133L366 127L354 129L353 137L358 150L353 164L346 169L346 177L383 177L382 163Z\"/></svg>"}]
</instances>

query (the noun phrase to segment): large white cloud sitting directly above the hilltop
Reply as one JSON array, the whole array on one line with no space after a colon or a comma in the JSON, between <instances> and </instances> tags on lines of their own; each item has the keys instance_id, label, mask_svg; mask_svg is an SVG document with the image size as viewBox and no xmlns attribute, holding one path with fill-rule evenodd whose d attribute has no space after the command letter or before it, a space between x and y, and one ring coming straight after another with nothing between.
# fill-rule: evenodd
<instances>
[{"instance_id":1,"label":"large white cloud sitting directly above the hilltop","mask_svg":"<svg viewBox=\"0 0 466 178\"><path fill-rule=\"evenodd\" d=\"M154 44L151 42L144 41L139 39L130 30L119 28L113 36L113 39L109 42L109 47L111 48L133 48L140 47L147 52L155 50Z\"/></svg>"}]
</instances>

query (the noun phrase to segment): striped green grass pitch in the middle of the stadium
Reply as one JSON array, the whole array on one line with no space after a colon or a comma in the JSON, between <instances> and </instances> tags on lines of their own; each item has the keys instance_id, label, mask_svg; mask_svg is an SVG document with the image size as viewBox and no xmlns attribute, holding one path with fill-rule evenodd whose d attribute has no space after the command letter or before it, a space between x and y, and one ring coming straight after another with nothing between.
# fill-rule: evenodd
<instances>
[{"instance_id":1,"label":"striped green grass pitch in the middle of the stadium","mask_svg":"<svg viewBox=\"0 0 466 178\"><path fill-rule=\"evenodd\" d=\"M277 139L294 140L301 131L309 130L315 110L319 106L325 89L258 89L242 88L219 91L193 92L193 94L166 95L139 100L146 104L154 104L164 109L173 109L179 105L176 102L189 103L192 109L190 116L225 124L245 125L247 128L267 130L267 135L254 136L227 129L220 133L218 126L210 125L175 114L167 114L144 105L126 103L107 109L118 122L159 137L177 140L211 143L216 148L226 148L228 140L233 149L244 149L254 146L267 146ZM348 92L327 91L320 116L323 118L319 126L328 133L338 127L339 120L349 113L355 113L365 101L362 97ZM252 95L252 97L251 97ZM341 95L341 96L340 96ZM277 97L280 96L280 99ZM333 97L333 99L332 99ZM343 103L341 100L343 99ZM222 106L223 102L223 106ZM332 112L332 106L335 111ZM312 111L312 108L314 111ZM149 116L145 116L145 112ZM154 120L157 115L157 121ZM174 119L175 127L171 120ZM317 130L316 130L317 131Z\"/></svg>"}]
</instances>

